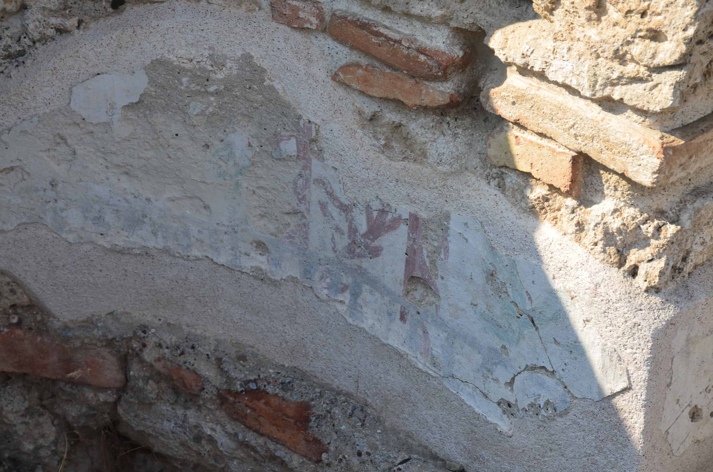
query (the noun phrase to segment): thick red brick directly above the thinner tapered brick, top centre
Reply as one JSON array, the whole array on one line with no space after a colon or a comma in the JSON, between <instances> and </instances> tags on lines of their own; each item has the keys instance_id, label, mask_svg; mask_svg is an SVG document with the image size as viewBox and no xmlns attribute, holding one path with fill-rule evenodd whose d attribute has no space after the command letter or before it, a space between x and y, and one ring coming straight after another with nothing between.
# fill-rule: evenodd
<instances>
[{"instance_id":1,"label":"thick red brick directly above the thinner tapered brick, top centre","mask_svg":"<svg viewBox=\"0 0 713 472\"><path fill-rule=\"evenodd\" d=\"M457 53L426 46L414 36L347 11L334 11L327 28L340 43L364 51L394 68L431 81L445 81L473 58L471 48Z\"/></svg>"}]
</instances>

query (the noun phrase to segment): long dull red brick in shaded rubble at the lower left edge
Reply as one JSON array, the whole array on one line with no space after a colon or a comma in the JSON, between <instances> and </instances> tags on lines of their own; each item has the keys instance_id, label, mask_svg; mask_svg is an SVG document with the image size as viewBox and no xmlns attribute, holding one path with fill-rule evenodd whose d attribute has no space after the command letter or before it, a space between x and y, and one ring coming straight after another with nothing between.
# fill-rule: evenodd
<instances>
[{"instance_id":1,"label":"long dull red brick in shaded rubble at the lower left edge","mask_svg":"<svg viewBox=\"0 0 713 472\"><path fill-rule=\"evenodd\" d=\"M0 332L0 371L99 387L126 383L123 362L108 350L66 347L19 328Z\"/></svg>"}]
</instances>

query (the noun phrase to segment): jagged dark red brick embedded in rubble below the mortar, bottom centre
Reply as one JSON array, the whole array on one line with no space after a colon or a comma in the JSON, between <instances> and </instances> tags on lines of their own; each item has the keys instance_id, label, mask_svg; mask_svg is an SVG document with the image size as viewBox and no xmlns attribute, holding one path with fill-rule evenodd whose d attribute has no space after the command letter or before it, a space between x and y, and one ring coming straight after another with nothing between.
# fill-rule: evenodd
<instances>
[{"instance_id":1,"label":"jagged dark red brick embedded in rubble below the mortar, bottom centre","mask_svg":"<svg viewBox=\"0 0 713 472\"><path fill-rule=\"evenodd\" d=\"M309 434L306 401L290 401L260 389L242 394L222 390L220 400L228 416L291 451L315 462L322 461L322 453L327 452L327 446Z\"/></svg>"}]
</instances>

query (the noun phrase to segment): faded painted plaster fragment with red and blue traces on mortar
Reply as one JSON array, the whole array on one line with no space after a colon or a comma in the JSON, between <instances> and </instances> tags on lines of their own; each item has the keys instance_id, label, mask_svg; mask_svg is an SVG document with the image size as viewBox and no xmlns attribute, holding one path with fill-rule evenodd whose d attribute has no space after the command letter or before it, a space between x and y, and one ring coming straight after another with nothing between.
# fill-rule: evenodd
<instances>
[{"instance_id":1,"label":"faded painted plaster fragment with red and blue traces on mortar","mask_svg":"<svg viewBox=\"0 0 713 472\"><path fill-rule=\"evenodd\" d=\"M161 169L178 156L157 155L153 143L180 142L181 133L163 137L166 129L155 120L221 120L236 108L219 92L229 88L224 81L214 91L210 79L202 83L210 77L202 68L168 61L145 67L155 82L142 103L125 108L126 116L148 117L146 125L133 125L145 129L144 140L133 140L130 153L102 158L98 151L131 133L120 116L122 106L145 91L143 70L97 76L72 90L70 106L82 121L111 125L108 143L101 128L85 123L82 133L66 125L48 130L43 121L50 115L11 128L2 138L9 163L22 163L29 178L13 189L16 202L8 205L4 229L40 222L75 242L169 247L271 279L296 277L337 302L350 322L442 377L506 433L511 420L497 402L516 401L506 384L528 367L553 372L580 398L600 400L628 386L620 356L586 327L576 304L565 304L567 292L555 291L538 266L493 250L472 217L445 214L442 221L425 221L378 200L344 200L337 173L312 157L319 154L316 125L297 118L250 56L241 56L235 68L250 70L243 80L260 94L240 108L252 108L251 125L241 130L230 123L237 130L212 138L215 149L190 136L183 146L195 150L179 151L183 160L172 173ZM199 100L207 107L202 116L191 113ZM267 103L274 108L265 108ZM154 118L152 110L168 114ZM282 128L275 129L272 116L278 113ZM220 125L229 126L227 116L222 119ZM259 123L272 129L259 130ZM46 133L54 133L53 144L66 145L67 162L45 148L39 137ZM25 162L29 149L43 158ZM43 185L48 188L37 193ZM414 293L419 289L426 294Z\"/></svg>"}]
</instances>

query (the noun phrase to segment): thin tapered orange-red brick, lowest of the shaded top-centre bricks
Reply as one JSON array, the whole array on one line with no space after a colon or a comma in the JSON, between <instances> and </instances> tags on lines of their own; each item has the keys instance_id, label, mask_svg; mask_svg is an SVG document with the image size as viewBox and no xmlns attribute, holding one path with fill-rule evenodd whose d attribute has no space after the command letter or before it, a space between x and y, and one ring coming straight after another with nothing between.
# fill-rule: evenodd
<instances>
[{"instance_id":1,"label":"thin tapered orange-red brick, lowest of the shaded top-centre bricks","mask_svg":"<svg viewBox=\"0 0 713 472\"><path fill-rule=\"evenodd\" d=\"M347 64L334 73L332 80L372 97L399 100L411 108L450 108L461 103L460 93L438 90L406 74L384 72L371 66Z\"/></svg>"}]
</instances>

